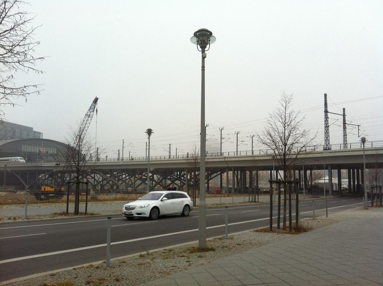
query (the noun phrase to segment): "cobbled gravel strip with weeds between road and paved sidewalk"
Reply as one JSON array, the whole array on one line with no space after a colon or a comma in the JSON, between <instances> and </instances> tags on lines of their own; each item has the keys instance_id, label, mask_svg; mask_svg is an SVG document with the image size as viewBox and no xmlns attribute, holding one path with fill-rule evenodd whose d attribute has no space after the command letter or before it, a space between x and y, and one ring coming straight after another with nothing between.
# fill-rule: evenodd
<instances>
[{"instance_id":1,"label":"cobbled gravel strip with weeds between road and paved sidewalk","mask_svg":"<svg viewBox=\"0 0 383 286\"><path fill-rule=\"evenodd\" d=\"M333 214L329 218L306 219L302 221L302 224L315 229L344 219L352 219L352 217L383 218L383 209L352 209ZM139 285L290 236L290 234L246 231L231 234L228 240L223 239L223 237L208 240L207 247L212 247L215 251L206 253L190 253L191 247L198 247L198 243L193 242L191 244L175 245L171 248L161 248L151 252L115 258L112 259L110 268L105 267L105 262L98 261L75 268L18 278L13 281L3 282L0 285L44 286L54 285L54 283L64 282L65 280L72 281L73 285L76 286Z\"/></svg>"}]
</instances>

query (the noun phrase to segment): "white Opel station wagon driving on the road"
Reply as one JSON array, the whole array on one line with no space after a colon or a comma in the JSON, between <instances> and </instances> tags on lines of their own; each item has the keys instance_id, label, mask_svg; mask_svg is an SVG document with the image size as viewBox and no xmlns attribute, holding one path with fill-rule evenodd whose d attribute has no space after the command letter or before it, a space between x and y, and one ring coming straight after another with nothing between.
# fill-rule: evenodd
<instances>
[{"instance_id":1,"label":"white Opel station wagon driving on the road","mask_svg":"<svg viewBox=\"0 0 383 286\"><path fill-rule=\"evenodd\" d=\"M188 216L193 209L193 201L182 191L152 191L137 201L124 204L122 213L127 219L148 217L157 219L167 214Z\"/></svg>"}]
</instances>

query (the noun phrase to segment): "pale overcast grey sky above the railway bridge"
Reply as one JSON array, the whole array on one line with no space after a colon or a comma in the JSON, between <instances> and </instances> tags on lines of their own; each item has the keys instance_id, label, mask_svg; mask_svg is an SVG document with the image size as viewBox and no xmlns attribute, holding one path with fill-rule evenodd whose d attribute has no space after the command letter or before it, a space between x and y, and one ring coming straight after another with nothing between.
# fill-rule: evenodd
<instances>
[{"instance_id":1,"label":"pale overcast grey sky above the railway bridge","mask_svg":"<svg viewBox=\"0 0 383 286\"><path fill-rule=\"evenodd\" d=\"M8 121L63 140L97 96L97 145L108 157L132 143L127 157L178 153L199 144L201 54L190 37L208 28L216 37L206 58L207 137L223 151L251 149L282 91L294 93L304 127L323 144L324 93L329 111L360 124L369 141L383 140L380 1L59 1L30 0L43 25L35 39L43 75L18 75L44 83L39 96L6 108ZM351 101L351 102L350 102ZM330 114L330 142L342 142L342 118ZM349 128L348 142L357 142ZM96 133L96 116L90 125ZM229 135L228 135L229 134ZM225 141L225 140L224 140ZM128 145L128 143L126 145ZM262 148L254 142L255 149ZM134 146L134 147L133 147Z\"/></svg>"}]
</instances>

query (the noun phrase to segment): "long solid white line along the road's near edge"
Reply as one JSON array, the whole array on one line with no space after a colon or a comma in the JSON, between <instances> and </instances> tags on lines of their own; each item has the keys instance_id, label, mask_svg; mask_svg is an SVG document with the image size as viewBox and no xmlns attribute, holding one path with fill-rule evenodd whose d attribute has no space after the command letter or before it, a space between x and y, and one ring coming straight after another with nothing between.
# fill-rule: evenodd
<instances>
[{"instance_id":1,"label":"long solid white line along the road's near edge","mask_svg":"<svg viewBox=\"0 0 383 286\"><path fill-rule=\"evenodd\" d=\"M347 206L355 206L356 204L363 204L363 203L347 204L347 205L344 205L344 206L336 206L336 207L332 207L332 208L328 208L328 209L336 209L336 208L343 208L343 207L347 207ZM326 209L316 209L316 211L324 211L324 210L326 210ZM301 212L301 214L308 213L308 212L311 212L311 211ZM293 215L295 215L295 213ZM277 218L277 216L273 216L273 219L274 218ZM268 220L268 219L270 219L270 217L265 217L265 218L262 218L262 219L252 219L250 221L232 222L232 223L230 223L228 225L229 226L234 226L236 224L246 224L246 223L249 223L249 222L265 221L265 220ZM224 226L225 226L224 224L220 224L218 226L206 227L206 229L214 229L214 228L224 227ZM188 233L188 232L195 232L195 231L198 231L198 229L182 230L182 231L172 232L172 233L167 233L167 234L159 234L159 235L153 235L153 236L148 236L148 237L140 237L140 238L137 238L137 239L129 239L129 240L116 241L116 242L112 242L111 245L124 244L124 243L141 241L141 240L146 240L146 239L155 239L155 238L158 238L158 237L165 237L165 236L177 235L177 234L185 234L185 233ZM28 256L23 256L23 257L10 258L10 259L5 259L5 260L0 260L0 264L8 263L8 262L13 262L13 261L19 261L19 260L25 260L25 259L31 259L31 258L37 258L37 257L44 257L44 256L49 256L49 255L56 255L56 254L61 254L61 253L68 253L68 252L75 252L75 251L80 251L80 250L87 250L87 249L98 248L98 247L105 247L105 246L106 246L106 244L97 244L97 245L90 245L90 246L86 246L86 247L79 247L79 248L72 248L72 249L67 249L67 250L60 250L60 251L55 251L55 252L47 252L47 253L28 255Z\"/></svg>"}]
</instances>

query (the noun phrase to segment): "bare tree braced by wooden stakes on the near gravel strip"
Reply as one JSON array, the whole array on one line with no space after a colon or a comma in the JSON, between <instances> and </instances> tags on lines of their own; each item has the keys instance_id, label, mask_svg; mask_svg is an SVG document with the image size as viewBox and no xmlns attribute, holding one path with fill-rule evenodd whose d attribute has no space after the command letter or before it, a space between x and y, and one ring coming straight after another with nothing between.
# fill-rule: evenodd
<instances>
[{"instance_id":1,"label":"bare tree braced by wooden stakes on the near gravel strip","mask_svg":"<svg viewBox=\"0 0 383 286\"><path fill-rule=\"evenodd\" d=\"M269 114L264 130L257 133L258 141L268 149L272 149L271 157L283 170L283 180L287 172L295 165L298 155L313 143L316 134L310 136L306 129L301 129L303 118L294 111L293 94L282 93L280 106ZM283 230L286 230L286 186L283 192ZM270 190L272 191L272 190Z\"/></svg>"}]
</instances>

